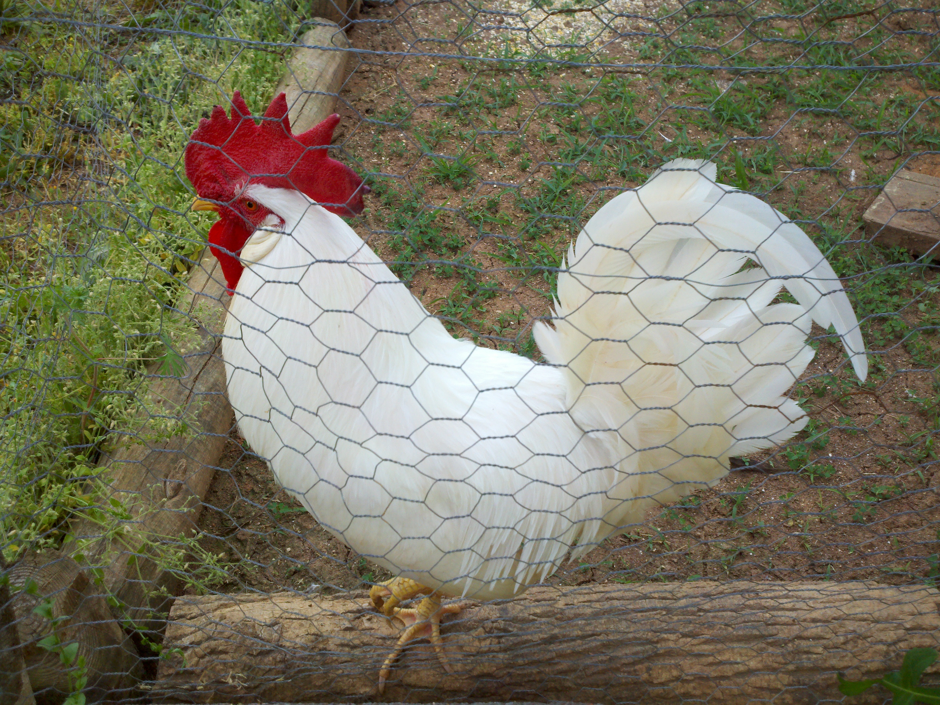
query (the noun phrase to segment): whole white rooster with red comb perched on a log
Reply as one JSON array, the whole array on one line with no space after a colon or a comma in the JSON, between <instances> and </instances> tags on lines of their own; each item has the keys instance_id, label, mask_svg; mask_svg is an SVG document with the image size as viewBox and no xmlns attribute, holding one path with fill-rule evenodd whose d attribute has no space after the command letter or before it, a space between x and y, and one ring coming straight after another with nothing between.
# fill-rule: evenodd
<instances>
[{"instance_id":1,"label":"whole white rooster with red comb perched on a log","mask_svg":"<svg viewBox=\"0 0 940 705\"><path fill-rule=\"evenodd\" d=\"M232 104L186 149L234 290L228 398L278 482L398 576L372 589L408 627L380 692L418 636L450 670L440 618L460 608L440 596L516 595L569 551L713 486L729 456L800 431L786 393L813 357L812 321L835 327L865 379L819 249L716 183L714 164L670 162L587 222L558 274L555 328L535 329L540 365L452 337L337 215L368 192L326 156L338 116L293 136L283 94L260 125L237 92ZM781 287L799 303L772 303Z\"/></svg>"}]
</instances>

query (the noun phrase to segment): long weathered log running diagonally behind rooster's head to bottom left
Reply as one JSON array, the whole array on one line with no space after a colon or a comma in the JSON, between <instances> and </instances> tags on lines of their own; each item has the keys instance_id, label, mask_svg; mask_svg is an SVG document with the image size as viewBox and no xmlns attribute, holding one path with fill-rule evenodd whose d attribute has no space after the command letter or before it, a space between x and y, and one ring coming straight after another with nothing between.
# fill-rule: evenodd
<instances>
[{"instance_id":1,"label":"long weathered log running diagonally behind rooster's head to bottom left","mask_svg":"<svg viewBox=\"0 0 940 705\"><path fill-rule=\"evenodd\" d=\"M304 40L348 46L336 24L311 30ZM294 56L288 76L297 79L295 84L286 78L278 87L300 99L291 109L292 123L312 126L333 111L345 63L342 52L301 49ZM69 694L69 668L57 653L39 646L50 630L61 643L78 642L90 701L130 697L144 676L137 650L118 619L131 619L134 628L144 631L162 631L161 613L168 612L181 587L162 554L176 550L169 543L194 535L234 420L221 356L229 297L209 248L188 285L179 308L196 323L198 336L178 351L184 372L154 381L140 399L133 428L117 431L118 442L102 454L99 477L110 488L108 504L121 515L103 524L88 517L79 520L60 552L28 555L13 568L0 570L15 587L35 586L11 598L6 583L0 585L0 657L6 666L0 667L0 705L54 705ZM167 419L182 422L182 432L161 435L161 422ZM184 541L179 550L185 552ZM91 570L83 571L71 556ZM46 599L53 603L55 624L33 612Z\"/></svg>"}]
</instances>

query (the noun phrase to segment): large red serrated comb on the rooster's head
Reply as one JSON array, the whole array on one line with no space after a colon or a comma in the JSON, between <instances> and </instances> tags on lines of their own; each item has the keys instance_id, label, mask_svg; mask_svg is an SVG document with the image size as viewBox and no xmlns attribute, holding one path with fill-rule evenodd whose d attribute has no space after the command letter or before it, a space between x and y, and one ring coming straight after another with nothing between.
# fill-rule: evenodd
<instances>
[{"instance_id":1,"label":"large red serrated comb on the rooster's head","mask_svg":"<svg viewBox=\"0 0 940 705\"><path fill-rule=\"evenodd\" d=\"M186 176L199 197L225 203L251 181L302 191L341 215L363 210L362 180L326 155L338 115L295 135L290 133L283 93L274 98L259 125L239 91L231 103L230 117L221 106L212 108L211 118L199 121L186 146Z\"/></svg>"}]
</instances>

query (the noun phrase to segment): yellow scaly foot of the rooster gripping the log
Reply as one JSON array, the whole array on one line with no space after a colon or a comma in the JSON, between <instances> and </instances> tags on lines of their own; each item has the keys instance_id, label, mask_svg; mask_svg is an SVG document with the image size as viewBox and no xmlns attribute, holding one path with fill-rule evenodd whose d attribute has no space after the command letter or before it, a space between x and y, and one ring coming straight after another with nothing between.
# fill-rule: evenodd
<instances>
[{"instance_id":1,"label":"yellow scaly foot of the rooster gripping the log","mask_svg":"<svg viewBox=\"0 0 940 705\"><path fill-rule=\"evenodd\" d=\"M403 609L399 603L411 600L418 595L430 595L426 597L417 607ZM444 651L444 642L441 640L441 617L443 615L456 615L461 611L459 604L441 605L441 599L434 594L431 587L426 587L420 583L415 583L410 578L392 578L384 583L372 587L368 593L369 598L375 608L382 612L385 617L399 619L405 629L399 636L399 642L395 645L382 670L379 671L379 694L385 689L385 681L392 670L392 664L399 657L401 650L413 639L430 639L437 658L444 666L447 673L453 673L454 669L450 667L447 661L447 654Z\"/></svg>"}]
</instances>

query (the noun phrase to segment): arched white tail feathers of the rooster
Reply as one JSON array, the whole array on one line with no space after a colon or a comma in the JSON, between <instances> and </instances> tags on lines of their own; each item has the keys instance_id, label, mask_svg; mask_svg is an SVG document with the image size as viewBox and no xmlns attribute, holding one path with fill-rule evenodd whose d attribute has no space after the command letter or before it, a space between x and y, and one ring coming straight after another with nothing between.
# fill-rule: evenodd
<instances>
[{"instance_id":1,"label":"arched white tail feathers of the rooster","mask_svg":"<svg viewBox=\"0 0 940 705\"><path fill-rule=\"evenodd\" d=\"M868 371L852 305L816 245L715 177L712 163L677 159L605 204L558 276L555 330L536 327L541 352L565 368L575 420L619 431L636 476L622 499L673 501L723 477L729 456L800 431L807 419L784 395L812 359L811 321L833 325L856 374ZM798 304L772 304L781 287Z\"/></svg>"}]
</instances>

